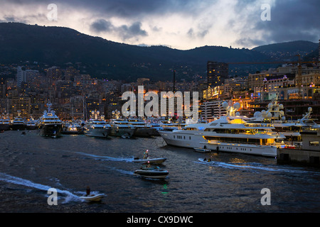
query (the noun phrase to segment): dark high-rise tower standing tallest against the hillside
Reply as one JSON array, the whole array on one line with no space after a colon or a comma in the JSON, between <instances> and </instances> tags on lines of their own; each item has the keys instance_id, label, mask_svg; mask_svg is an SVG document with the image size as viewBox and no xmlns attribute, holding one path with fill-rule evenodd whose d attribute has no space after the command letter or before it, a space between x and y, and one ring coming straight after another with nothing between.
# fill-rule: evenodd
<instances>
[{"instance_id":1,"label":"dark high-rise tower standing tallest against the hillside","mask_svg":"<svg viewBox=\"0 0 320 227\"><path fill-rule=\"evenodd\" d=\"M224 84L228 79L228 63L207 62L207 83L210 87L216 87Z\"/></svg>"}]
</instances>

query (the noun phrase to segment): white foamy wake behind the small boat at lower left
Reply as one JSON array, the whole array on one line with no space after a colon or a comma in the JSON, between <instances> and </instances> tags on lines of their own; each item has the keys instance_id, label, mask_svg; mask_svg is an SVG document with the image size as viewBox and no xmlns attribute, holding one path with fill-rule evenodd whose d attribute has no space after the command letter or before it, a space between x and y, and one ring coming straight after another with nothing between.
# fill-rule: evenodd
<instances>
[{"instance_id":1,"label":"white foamy wake behind the small boat at lower left","mask_svg":"<svg viewBox=\"0 0 320 227\"><path fill-rule=\"evenodd\" d=\"M28 188L39 189L41 191L45 191L46 196L50 195L50 194L47 194L47 192L48 192L48 189L52 188L47 185L37 184L37 183L29 181L28 179L14 177L14 176L2 173L2 172L0 173L0 181L11 183L11 184L18 184L18 185L22 185L22 186L28 187ZM63 199L64 199L63 204L68 203L69 201L82 201L79 198L79 196L73 194L72 192L69 192L67 190L61 190L61 189L56 189L56 190L58 192L58 199L60 199L59 198L60 194L65 194L65 197L63 197Z\"/></svg>"}]
</instances>

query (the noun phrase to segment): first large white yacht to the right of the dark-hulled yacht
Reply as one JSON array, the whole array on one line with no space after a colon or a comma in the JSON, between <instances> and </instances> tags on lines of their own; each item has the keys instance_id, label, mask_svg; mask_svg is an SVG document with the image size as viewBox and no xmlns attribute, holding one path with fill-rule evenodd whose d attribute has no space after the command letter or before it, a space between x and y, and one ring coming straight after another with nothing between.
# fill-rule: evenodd
<instances>
[{"instance_id":1,"label":"first large white yacht to the right of the dark-hulled yacht","mask_svg":"<svg viewBox=\"0 0 320 227\"><path fill-rule=\"evenodd\" d=\"M92 118L85 124L85 135L92 137L107 138L111 132L111 126L105 121L104 116L100 116L100 111L92 111Z\"/></svg>"}]
</instances>

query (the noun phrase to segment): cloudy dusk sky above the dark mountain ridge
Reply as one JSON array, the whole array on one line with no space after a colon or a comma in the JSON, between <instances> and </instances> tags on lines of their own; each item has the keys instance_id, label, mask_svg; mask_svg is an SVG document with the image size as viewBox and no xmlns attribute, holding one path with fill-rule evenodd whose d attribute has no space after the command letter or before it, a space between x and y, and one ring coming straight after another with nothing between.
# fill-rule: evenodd
<instances>
[{"instance_id":1,"label":"cloudy dusk sky above the dark mountain ridge","mask_svg":"<svg viewBox=\"0 0 320 227\"><path fill-rule=\"evenodd\" d=\"M49 4L57 6L57 21ZM262 21L263 4L271 21ZM0 0L0 21L74 28L134 45L253 48L320 38L320 0ZM264 14L265 15L265 14Z\"/></svg>"}]
</instances>

